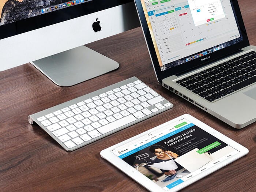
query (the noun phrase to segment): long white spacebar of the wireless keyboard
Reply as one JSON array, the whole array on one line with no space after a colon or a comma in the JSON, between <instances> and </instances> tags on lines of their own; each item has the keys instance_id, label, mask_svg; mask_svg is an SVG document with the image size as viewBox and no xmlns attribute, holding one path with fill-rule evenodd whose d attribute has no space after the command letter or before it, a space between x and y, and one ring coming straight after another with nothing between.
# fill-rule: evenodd
<instances>
[{"instance_id":1,"label":"long white spacebar of the wireless keyboard","mask_svg":"<svg viewBox=\"0 0 256 192\"><path fill-rule=\"evenodd\" d=\"M105 134L109 131L113 131L114 129L117 129L119 127L122 127L124 125L127 125L128 123L132 123L133 121L136 121L137 118L134 117L133 115L128 115L124 118L120 118L112 123L106 124L100 128L98 128L97 130L101 133L101 134Z\"/></svg>"}]
</instances>

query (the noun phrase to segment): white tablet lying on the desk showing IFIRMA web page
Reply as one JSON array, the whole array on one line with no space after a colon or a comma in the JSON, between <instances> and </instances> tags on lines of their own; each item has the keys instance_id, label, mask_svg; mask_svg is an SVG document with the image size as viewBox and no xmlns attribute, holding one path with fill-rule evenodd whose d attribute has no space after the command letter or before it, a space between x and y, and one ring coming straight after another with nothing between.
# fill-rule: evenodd
<instances>
[{"instance_id":1,"label":"white tablet lying on the desk showing IFIRMA web page","mask_svg":"<svg viewBox=\"0 0 256 192\"><path fill-rule=\"evenodd\" d=\"M184 114L101 151L149 191L178 191L246 155L248 149ZM167 162L174 160L177 168ZM152 166L158 163L158 166ZM165 168L158 169L158 168ZM173 167L176 169L173 170Z\"/></svg>"}]
</instances>

